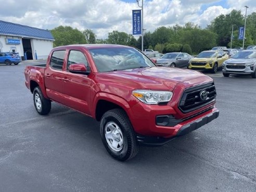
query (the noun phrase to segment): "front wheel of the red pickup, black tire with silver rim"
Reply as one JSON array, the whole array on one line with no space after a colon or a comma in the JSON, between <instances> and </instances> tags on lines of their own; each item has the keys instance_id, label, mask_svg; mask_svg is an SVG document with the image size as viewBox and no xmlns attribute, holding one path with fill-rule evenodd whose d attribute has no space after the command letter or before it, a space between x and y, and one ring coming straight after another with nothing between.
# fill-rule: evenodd
<instances>
[{"instance_id":1,"label":"front wheel of the red pickup, black tire with silver rim","mask_svg":"<svg viewBox=\"0 0 256 192\"><path fill-rule=\"evenodd\" d=\"M108 132L112 138L107 138ZM138 152L133 127L123 109L112 109L104 113L100 120L100 136L105 148L114 159L125 161L135 157ZM115 148L114 142L118 143Z\"/></svg>"}]
</instances>

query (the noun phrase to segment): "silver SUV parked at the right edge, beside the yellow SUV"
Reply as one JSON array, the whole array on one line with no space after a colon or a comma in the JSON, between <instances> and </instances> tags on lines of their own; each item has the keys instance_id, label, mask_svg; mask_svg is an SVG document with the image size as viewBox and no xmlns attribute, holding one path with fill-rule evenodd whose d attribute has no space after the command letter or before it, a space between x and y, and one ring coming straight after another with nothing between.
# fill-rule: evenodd
<instances>
[{"instance_id":1,"label":"silver SUV parked at the right edge, beside the yellow SUV","mask_svg":"<svg viewBox=\"0 0 256 192\"><path fill-rule=\"evenodd\" d=\"M251 74L256 78L256 49L242 50L222 64L223 76L229 74Z\"/></svg>"}]
</instances>

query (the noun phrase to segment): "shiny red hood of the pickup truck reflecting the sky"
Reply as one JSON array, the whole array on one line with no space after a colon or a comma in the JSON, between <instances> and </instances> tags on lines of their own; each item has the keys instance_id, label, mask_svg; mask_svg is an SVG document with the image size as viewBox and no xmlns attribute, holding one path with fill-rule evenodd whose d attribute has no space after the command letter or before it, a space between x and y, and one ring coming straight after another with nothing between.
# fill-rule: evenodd
<instances>
[{"instance_id":1,"label":"shiny red hood of the pickup truck reflecting the sky","mask_svg":"<svg viewBox=\"0 0 256 192\"><path fill-rule=\"evenodd\" d=\"M111 71L98 73L96 76L98 80L108 81L108 84L115 84L114 86L125 87L125 89L155 89L155 90L169 90L184 82L186 87L194 84L201 84L212 81L212 79L197 71L178 68L167 67L151 67L142 69L130 69L122 71ZM118 83L117 83L118 82Z\"/></svg>"}]
</instances>

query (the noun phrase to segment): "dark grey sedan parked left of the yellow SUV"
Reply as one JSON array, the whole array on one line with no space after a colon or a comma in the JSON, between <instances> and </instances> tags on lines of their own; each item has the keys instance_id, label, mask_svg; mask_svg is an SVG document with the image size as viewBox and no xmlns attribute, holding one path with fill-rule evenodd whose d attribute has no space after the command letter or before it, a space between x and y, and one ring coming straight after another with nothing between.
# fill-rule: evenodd
<instances>
[{"instance_id":1,"label":"dark grey sedan parked left of the yellow SUV","mask_svg":"<svg viewBox=\"0 0 256 192\"><path fill-rule=\"evenodd\" d=\"M187 53L167 53L157 59L157 66L163 67L188 67L188 61L194 58Z\"/></svg>"}]
</instances>

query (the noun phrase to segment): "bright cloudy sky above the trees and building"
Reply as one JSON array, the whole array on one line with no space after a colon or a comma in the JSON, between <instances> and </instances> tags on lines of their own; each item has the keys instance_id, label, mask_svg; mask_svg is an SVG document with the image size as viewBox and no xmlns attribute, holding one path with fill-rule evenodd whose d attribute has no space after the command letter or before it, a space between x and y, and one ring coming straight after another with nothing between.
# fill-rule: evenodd
<instances>
[{"instance_id":1,"label":"bright cloudy sky above the trees and building","mask_svg":"<svg viewBox=\"0 0 256 192\"><path fill-rule=\"evenodd\" d=\"M226 5L220 5L222 2ZM216 3L218 6L214 6ZM105 39L113 30L131 34L132 10L139 9L135 0L0 0L0 4L0 20L43 29L59 25L92 29L99 39ZM206 27L232 9L245 14L245 5L249 6L248 14L256 10L255 0L144 0L144 28L153 32L163 25L183 25L188 21Z\"/></svg>"}]
</instances>

